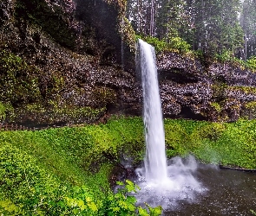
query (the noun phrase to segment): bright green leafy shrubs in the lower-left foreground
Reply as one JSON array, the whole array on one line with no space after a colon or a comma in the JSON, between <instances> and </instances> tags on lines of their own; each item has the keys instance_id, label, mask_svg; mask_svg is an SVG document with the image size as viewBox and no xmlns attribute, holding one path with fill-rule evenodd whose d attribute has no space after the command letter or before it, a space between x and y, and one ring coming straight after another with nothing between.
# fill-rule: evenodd
<instances>
[{"instance_id":1,"label":"bright green leafy shrubs in the lower-left foreground","mask_svg":"<svg viewBox=\"0 0 256 216\"><path fill-rule=\"evenodd\" d=\"M96 178L94 178L95 181ZM160 215L161 207L148 211L135 206L130 193L138 187L132 181L113 194L104 187L73 186L60 181L40 166L35 157L10 143L0 146L0 213L4 215Z\"/></svg>"}]
</instances>

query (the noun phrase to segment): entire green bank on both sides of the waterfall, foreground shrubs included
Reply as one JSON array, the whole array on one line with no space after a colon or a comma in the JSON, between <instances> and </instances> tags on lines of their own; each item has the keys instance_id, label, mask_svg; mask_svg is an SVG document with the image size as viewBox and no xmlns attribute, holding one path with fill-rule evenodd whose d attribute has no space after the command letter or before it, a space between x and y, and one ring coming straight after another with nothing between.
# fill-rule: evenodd
<instances>
[{"instance_id":1,"label":"entire green bank on both sides of the waterfall, foreground shrubs included","mask_svg":"<svg viewBox=\"0 0 256 216\"><path fill-rule=\"evenodd\" d=\"M256 121L217 124L165 120L167 156L256 168ZM0 213L3 215L147 215L135 199L110 188L123 155L144 156L141 118L38 131L0 132ZM150 215L158 215L152 209Z\"/></svg>"}]
</instances>

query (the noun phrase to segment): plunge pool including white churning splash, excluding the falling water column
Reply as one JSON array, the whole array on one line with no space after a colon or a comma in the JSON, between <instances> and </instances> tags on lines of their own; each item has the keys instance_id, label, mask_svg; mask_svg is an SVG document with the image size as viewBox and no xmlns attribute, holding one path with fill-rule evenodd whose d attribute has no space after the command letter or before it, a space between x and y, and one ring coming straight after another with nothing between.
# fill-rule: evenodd
<instances>
[{"instance_id":1,"label":"plunge pool including white churning splash, excluding the falling water column","mask_svg":"<svg viewBox=\"0 0 256 216\"><path fill-rule=\"evenodd\" d=\"M141 187L138 205L163 207L163 215L253 215L256 212L256 173L200 164L194 157L168 162L168 180L135 181ZM141 176L141 177L140 177Z\"/></svg>"}]
</instances>

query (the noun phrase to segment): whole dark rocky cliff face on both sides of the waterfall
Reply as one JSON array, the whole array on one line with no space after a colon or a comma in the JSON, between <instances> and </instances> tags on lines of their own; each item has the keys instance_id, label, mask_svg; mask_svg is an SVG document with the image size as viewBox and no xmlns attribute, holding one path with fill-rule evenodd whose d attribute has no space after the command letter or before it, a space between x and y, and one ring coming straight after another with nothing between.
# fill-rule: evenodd
<instances>
[{"instance_id":1,"label":"whole dark rocky cliff face on both sides of the waterfall","mask_svg":"<svg viewBox=\"0 0 256 216\"><path fill-rule=\"evenodd\" d=\"M124 13L124 0L2 0L1 120L56 124L141 115L135 33ZM179 54L160 54L158 68L165 116L255 118L254 73L216 62L206 67Z\"/></svg>"}]
</instances>

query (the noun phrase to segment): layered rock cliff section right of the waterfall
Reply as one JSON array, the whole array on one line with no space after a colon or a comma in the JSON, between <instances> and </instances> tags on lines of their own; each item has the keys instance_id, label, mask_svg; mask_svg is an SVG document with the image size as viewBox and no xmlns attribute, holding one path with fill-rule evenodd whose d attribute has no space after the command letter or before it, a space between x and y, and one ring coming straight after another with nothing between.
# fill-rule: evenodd
<instances>
[{"instance_id":1,"label":"layered rock cliff section right of the waterfall","mask_svg":"<svg viewBox=\"0 0 256 216\"><path fill-rule=\"evenodd\" d=\"M179 54L158 58L166 116L236 121L255 118L256 74L231 62L203 65Z\"/></svg>"}]
</instances>

